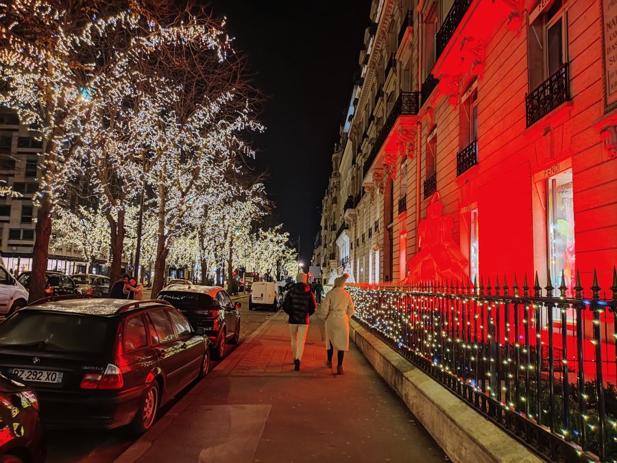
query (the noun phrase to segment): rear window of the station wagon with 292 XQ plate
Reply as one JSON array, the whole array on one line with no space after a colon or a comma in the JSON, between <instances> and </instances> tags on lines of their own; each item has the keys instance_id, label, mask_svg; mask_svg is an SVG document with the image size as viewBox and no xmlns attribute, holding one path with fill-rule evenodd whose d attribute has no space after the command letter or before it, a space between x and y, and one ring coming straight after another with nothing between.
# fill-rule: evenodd
<instances>
[{"instance_id":1,"label":"rear window of the station wagon with 292 XQ plate","mask_svg":"<svg viewBox=\"0 0 617 463\"><path fill-rule=\"evenodd\" d=\"M38 351L101 353L108 323L74 313L19 311L0 324L0 346Z\"/></svg>"}]
</instances>

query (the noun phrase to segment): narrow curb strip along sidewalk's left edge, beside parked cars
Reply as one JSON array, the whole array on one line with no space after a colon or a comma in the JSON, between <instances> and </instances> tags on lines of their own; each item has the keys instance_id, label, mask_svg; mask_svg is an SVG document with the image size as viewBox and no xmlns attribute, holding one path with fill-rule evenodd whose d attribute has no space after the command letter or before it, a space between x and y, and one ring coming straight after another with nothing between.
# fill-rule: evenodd
<instances>
[{"instance_id":1,"label":"narrow curb strip along sidewalk's left edge, beside parked cars","mask_svg":"<svg viewBox=\"0 0 617 463\"><path fill-rule=\"evenodd\" d=\"M165 429L173 424L173 421L176 420L184 410L191 406L193 401L199 394L202 394L204 390L208 388L208 385L212 381L214 381L217 377L228 376L229 372L233 370L233 368L242 360L242 354L244 351L250 349L250 345L253 340L261 335L265 329L267 329L268 325L280 316L283 313L282 311L278 311L274 313L273 316L264 320L262 324L260 324L255 331L253 331L249 337L246 338L244 342L242 342L237 348L234 349L232 354L238 353L239 355L228 355L223 360L217 364L214 370L210 370L208 375L199 381L199 383L195 384L191 390L186 392L184 397L176 402L171 409L167 411L165 416L162 416L152 428L146 431L140 438L138 438L135 442L131 444L131 446L123 451L118 458L114 460L114 463L134 463L139 458L141 458L150 447L152 447L152 442L158 438Z\"/></svg>"}]
</instances>

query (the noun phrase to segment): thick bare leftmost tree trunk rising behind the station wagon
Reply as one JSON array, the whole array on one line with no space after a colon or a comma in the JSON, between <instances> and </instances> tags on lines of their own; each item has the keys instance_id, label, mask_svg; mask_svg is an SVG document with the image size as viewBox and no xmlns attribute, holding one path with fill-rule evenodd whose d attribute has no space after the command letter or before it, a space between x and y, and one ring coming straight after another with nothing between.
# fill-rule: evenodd
<instances>
[{"instance_id":1,"label":"thick bare leftmost tree trunk rising behind the station wagon","mask_svg":"<svg viewBox=\"0 0 617 463\"><path fill-rule=\"evenodd\" d=\"M51 200L43 193L40 206L36 213L34 228L34 248L32 250L32 273L28 302L45 297L45 282L47 281L47 256L49 255L49 237L51 237Z\"/></svg>"}]
</instances>

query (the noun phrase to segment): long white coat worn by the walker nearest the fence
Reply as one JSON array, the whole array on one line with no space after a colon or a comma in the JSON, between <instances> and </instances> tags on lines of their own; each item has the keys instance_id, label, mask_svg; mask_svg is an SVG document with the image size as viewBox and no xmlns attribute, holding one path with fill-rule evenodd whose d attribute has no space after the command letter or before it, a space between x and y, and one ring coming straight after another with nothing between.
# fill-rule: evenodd
<instances>
[{"instance_id":1,"label":"long white coat worn by the walker nearest the fence","mask_svg":"<svg viewBox=\"0 0 617 463\"><path fill-rule=\"evenodd\" d=\"M343 287L328 291L322 302L322 318L326 320L326 349L332 342L337 351L349 351L349 319L355 311L354 302Z\"/></svg>"}]
</instances>

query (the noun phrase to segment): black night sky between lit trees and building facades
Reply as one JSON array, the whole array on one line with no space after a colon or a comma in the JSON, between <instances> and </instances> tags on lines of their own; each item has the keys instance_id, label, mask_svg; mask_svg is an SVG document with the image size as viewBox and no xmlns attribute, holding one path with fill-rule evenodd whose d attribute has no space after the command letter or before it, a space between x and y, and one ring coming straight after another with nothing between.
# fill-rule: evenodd
<instances>
[{"instance_id":1,"label":"black night sky between lit trees and building facades","mask_svg":"<svg viewBox=\"0 0 617 463\"><path fill-rule=\"evenodd\" d=\"M235 48L247 56L261 90L254 167L268 174L271 222L284 224L308 265L328 185L332 148L350 104L369 0L214 0ZM268 224L270 225L270 224ZM305 268L308 270L307 268Z\"/></svg>"}]
</instances>

